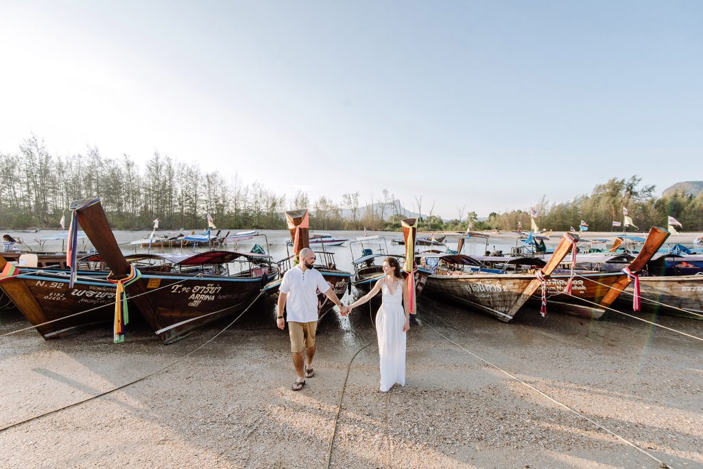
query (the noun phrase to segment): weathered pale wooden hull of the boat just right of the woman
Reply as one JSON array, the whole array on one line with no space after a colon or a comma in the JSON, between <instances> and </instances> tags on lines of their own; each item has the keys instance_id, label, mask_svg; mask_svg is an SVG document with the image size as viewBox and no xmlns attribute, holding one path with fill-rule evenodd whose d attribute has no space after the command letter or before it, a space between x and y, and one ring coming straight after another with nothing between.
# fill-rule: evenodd
<instances>
[{"instance_id":1,"label":"weathered pale wooden hull of the boat just right of the woman","mask_svg":"<svg viewBox=\"0 0 703 469\"><path fill-rule=\"evenodd\" d=\"M461 274L427 276L425 290L442 300L478 309L510 322L527 301L524 291L535 277L527 274Z\"/></svg>"}]
</instances>

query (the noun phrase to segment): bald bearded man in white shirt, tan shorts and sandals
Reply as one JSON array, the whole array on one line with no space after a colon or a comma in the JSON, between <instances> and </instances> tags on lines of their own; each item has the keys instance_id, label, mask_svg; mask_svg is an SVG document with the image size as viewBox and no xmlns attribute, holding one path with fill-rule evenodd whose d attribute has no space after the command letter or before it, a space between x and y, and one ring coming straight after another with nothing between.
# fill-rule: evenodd
<instances>
[{"instance_id":1,"label":"bald bearded man in white shirt, tan shorts and sandals","mask_svg":"<svg viewBox=\"0 0 703 469\"><path fill-rule=\"evenodd\" d=\"M312 378L315 371L312 359L315 355L315 331L317 328L317 290L327 295L338 307L342 316L349 314L349 309L342 306L335 290L325 281L320 272L313 269L315 252L304 248L299 254L298 265L289 269L283 275L278 293L278 316L276 325L285 328L283 309L288 312L288 331L290 333L290 352L297 379L292 390L299 391L305 385L305 378ZM307 355L307 365L303 357L303 349Z\"/></svg>"}]
</instances>

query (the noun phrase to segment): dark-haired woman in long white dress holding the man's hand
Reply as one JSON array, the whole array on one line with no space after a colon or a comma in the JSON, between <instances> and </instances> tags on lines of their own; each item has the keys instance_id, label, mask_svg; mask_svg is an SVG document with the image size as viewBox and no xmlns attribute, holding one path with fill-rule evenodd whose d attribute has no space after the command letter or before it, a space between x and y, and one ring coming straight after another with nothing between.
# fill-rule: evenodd
<instances>
[{"instance_id":1,"label":"dark-haired woman in long white dress holding the man's hand","mask_svg":"<svg viewBox=\"0 0 703 469\"><path fill-rule=\"evenodd\" d=\"M382 304L376 313L378 354L381 357L380 390L387 392L395 383L405 385L405 338L410 330L408 309L408 283L400 273L400 264L395 257L383 261L386 274L371 291L349 305L349 311L368 302L382 291Z\"/></svg>"}]
</instances>

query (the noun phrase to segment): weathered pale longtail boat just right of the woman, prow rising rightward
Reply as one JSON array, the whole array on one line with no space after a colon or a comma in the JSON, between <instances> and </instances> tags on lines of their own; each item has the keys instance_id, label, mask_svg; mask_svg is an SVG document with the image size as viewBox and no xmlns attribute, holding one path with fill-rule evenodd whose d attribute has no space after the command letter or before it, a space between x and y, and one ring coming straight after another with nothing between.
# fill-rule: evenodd
<instances>
[{"instance_id":1,"label":"weathered pale longtail boat just right of the woman, prow rising rightward","mask_svg":"<svg viewBox=\"0 0 703 469\"><path fill-rule=\"evenodd\" d=\"M537 274L466 272L458 267L465 263L474 266L480 263L466 259L470 259L469 256L455 255L456 263L446 264L449 269L438 266L437 271L427 277L425 289L440 299L460 302L507 323L538 288L544 288L546 278L578 240L575 234L564 233L554 255Z\"/></svg>"}]
</instances>

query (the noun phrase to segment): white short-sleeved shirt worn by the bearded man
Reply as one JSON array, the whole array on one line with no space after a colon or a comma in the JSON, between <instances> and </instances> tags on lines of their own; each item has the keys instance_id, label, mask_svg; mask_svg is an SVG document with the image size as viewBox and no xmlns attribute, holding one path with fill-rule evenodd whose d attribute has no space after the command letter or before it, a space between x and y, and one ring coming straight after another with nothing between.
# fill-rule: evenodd
<instances>
[{"instance_id":1,"label":"white short-sleeved shirt worn by the bearded man","mask_svg":"<svg viewBox=\"0 0 703 469\"><path fill-rule=\"evenodd\" d=\"M309 323L317 321L317 291L325 293L330 285L315 269L303 271L295 266L283 275L280 292L288 295L285 303L288 321Z\"/></svg>"}]
</instances>

